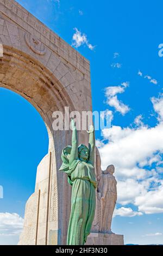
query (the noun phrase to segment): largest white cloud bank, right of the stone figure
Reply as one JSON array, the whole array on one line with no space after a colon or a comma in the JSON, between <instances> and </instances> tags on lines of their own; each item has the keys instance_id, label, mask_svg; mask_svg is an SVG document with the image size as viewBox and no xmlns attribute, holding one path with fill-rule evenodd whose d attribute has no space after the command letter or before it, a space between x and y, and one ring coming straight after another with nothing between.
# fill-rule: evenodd
<instances>
[{"instance_id":1,"label":"largest white cloud bank, right of the stone figure","mask_svg":"<svg viewBox=\"0 0 163 256\"><path fill-rule=\"evenodd\" d=\"M122 92L122 88L109 89L111 95ZM153 97L153 108L158 124L148 127L142 115L135 118L135 127L112 126L104 129L103 139L98 141L102 168L114 164L118 181L118 203L122 207L115 215L136 216L163 212L163 97ZM137 211L127 208L136 206ZM125 207L124 207L125 206Z\"/></svg>"}]
</instances>

